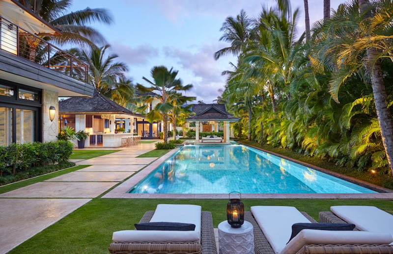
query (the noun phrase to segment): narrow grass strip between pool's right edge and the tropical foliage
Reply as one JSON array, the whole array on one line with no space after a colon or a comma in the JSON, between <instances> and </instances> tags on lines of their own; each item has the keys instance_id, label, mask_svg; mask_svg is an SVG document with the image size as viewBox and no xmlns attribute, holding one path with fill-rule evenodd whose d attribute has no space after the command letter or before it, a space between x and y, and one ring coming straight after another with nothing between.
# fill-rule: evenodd
<instances>
[{"instance_id":1,"label":"narrow grass strip between pool's right edge and the tropical foliage","mask_svg":"<svg viewBox=\"0 0 393 254\"><path fill-rule=\"evenodd\" d=\"M259 143L253 142L253 141L247 141L247 140L240 140L241 142L245 144L249 144L255 147L261 147ZM383 174L371 174L368 171L359 171L358 169L355 168L348 168L348 167L339 167L337 166L334 162L332 161L327 161L327 160L322 160L318 157L309 157L306 156L302 153L295 152L292 150L287 150L287 149L281 149L281 148L276 148L272 147L269 145L263 145L262 147L264 150L270 151L270 152L276 152L281 155L300 160L306 163L309 163L311 165L315 165L324 169L328 169L337 173L340 173L342 175L346 175L349 177L357 178L378 186L382 186L385 188L393 189L393 178L391 175L383 175Z\"/></svg>"}]
</instances>

